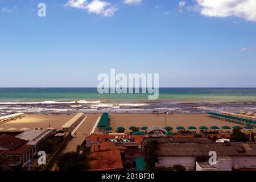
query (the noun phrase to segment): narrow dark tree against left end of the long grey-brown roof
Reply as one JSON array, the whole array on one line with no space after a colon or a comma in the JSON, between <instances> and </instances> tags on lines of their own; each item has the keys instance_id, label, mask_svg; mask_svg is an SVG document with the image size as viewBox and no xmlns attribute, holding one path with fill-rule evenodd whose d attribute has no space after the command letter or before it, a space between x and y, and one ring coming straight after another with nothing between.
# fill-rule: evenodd
<instances>
[{"instance_id":1,"label":"narrow dark tree against left end of the long grey-brown roof","mask_svg":"<svg viewBox=\"0 0 256 182\"><path fill-rule=\"evenodd\" d=\"M157 140L149 140L145 146L145 162L147 164L147 168L150 171L153 171L155 167L155 163L158 163L158 155L156 151L158 150L158 141Z\"/></svg>"}]
</instances>

